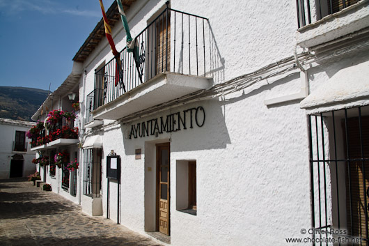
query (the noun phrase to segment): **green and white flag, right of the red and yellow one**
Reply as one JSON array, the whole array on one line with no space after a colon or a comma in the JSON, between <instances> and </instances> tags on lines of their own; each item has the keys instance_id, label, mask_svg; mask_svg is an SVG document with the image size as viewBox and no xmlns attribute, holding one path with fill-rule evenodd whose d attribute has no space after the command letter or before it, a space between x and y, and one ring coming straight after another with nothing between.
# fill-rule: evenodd
<instances>
[{"instance_id":1,"label":"green and white flag, right of the red and yellow one","mask_svg":"<svg viewBox=\"0 0 369 246\"><path fill-rule=\"evenodd\" d=\"M139 73L139 78L142 83L142 75L140 72L140 63L139 63L139 44L137 43L137 39L134 38L132 40L131 31L129 31L129 26L127 22L127 17L125 17L125 12L123 10L123 5L121 0L116 0L118 3L118 11L120 14L120 19L123 22L123 27L125 29L125 33L127 36L127 52L133 52L134 62L136 63L137 72Z\"/></svg>"}]
</instances>

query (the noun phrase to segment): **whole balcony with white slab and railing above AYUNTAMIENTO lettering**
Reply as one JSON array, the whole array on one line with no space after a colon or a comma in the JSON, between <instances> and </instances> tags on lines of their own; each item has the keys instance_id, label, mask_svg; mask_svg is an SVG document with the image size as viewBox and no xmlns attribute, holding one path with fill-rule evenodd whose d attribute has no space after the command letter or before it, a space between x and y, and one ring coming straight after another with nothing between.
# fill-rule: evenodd
<instances>
[{"instance_id":1,"label":"whole balcony with white slab and railing above AYUNTAMIENTO lettering","mask_svg":"<svg viewBox=\"0 0 369 246\"><path fill-rule=\"evenodd\" d=\"M206 18L166 8L136 36L136 52L125 47L95 71L93 119L116 120L212 86L207 31Z\"/></svg>"}]
</instances>

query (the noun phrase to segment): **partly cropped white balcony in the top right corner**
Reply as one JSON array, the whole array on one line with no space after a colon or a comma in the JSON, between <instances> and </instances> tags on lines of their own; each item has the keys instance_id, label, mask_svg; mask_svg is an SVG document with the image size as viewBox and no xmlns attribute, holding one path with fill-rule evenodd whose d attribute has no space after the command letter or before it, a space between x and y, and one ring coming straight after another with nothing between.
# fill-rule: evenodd
<instances>
[{"instance_id":1,"label":"partly cropped white balcony in the top right corner","mask_svg":"<svg viewBox=\"0 0 369 246\"><path fill-rule=\"evenodd\" d=\"M311 48L369 26L368 0L297 0L297 44Z\"/></svg>"}]
</instances>

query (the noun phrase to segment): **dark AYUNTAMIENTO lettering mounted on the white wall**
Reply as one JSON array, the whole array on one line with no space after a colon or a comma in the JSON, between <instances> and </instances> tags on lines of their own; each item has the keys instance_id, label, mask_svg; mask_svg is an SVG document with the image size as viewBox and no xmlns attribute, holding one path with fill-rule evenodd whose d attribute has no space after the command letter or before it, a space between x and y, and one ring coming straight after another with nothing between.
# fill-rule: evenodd
<instances>
[{"instance_id":1,"label":"dark AYUNTAMIENTO lettering mounted on the white wall","mask_svg":"<svg viewBox=\"0 0 369 246\"><path fill-rule=\"evenodd\" d=\"M182 129L194 128L197 125L201 128L205 123L205 109L201 106L192 107L181 112L168 114L160 118L152 118L148 121L143 121L131 125L131 132L129 132L129 139L134 137L147 137L163 132L177 132Z\"/></svg>"}]
</instances>

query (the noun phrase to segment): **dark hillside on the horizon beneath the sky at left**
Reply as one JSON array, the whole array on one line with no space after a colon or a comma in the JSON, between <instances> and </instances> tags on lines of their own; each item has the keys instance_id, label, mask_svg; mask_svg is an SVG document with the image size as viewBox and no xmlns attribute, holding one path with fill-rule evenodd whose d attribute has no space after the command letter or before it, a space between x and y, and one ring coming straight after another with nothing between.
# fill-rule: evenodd
<instances>
[{"instance_id":1,"label":"dark hillside on the horizon beneath the sky at left","mask_svg":"<svg viewBox=\"0 0 369 246\"><path fill-rule=\"evenodd\" d=\"M32 121L47 95L48 91L41 89L0 86L0 118Z\"/></svg>"}]
</instances>

